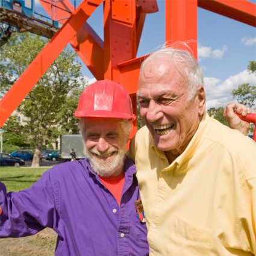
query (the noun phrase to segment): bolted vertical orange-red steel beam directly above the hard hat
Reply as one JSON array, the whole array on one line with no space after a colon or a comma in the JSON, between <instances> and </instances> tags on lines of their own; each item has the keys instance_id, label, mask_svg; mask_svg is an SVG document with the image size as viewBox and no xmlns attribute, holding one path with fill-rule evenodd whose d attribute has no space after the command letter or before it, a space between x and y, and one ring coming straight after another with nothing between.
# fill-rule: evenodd
<instances>
[{"instance_id":1,"label":"bolted vertical orange-red steel beam directly above the hard hat","mask_svg":"<svg viewBox=\"0 0 256 256\"><path fill-rule=\"evenodd\" d=\"M119 82L116 65L135 58L137 53L136 1L104 4L104 78Z\"/></svg>"}]
</instances>

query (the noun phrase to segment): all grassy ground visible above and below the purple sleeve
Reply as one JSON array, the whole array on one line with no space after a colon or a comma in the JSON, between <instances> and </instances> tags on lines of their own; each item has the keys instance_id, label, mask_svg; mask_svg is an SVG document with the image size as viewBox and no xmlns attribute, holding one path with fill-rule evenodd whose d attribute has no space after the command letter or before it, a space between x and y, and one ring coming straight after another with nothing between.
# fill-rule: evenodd
<instances>
[{"instance_id":1,"label":"all grassy ground visible above and below the purple sleeve","mask_svg":"<svg viewBox=\"0 0 256 256\"><path fill-rule=\"evenodd\" d=\"M0 179L7 192L28 189L39 180L49 167L0 167ZM0 255L5 256L52 256L55 251L57 235L49 228L34 236L1 239Z\"/></svg>"}]
</instances>

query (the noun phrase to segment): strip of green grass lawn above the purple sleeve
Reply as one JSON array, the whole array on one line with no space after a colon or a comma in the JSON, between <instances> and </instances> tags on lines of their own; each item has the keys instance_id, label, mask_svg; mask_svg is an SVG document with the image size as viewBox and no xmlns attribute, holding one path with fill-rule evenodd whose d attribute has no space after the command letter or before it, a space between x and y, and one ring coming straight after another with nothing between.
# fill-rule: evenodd
<instances>
[{"instance_id":1,"label":"strip of green grass lawn above the purple sleeve","mask_svg":"<svg viewBox=\"0 0 256 256\"><path fill-rule=\"evenodd\" d=\"M0 167L0 179L7 192L28 189L49 167Z\"/></svg>"}]
</instances>

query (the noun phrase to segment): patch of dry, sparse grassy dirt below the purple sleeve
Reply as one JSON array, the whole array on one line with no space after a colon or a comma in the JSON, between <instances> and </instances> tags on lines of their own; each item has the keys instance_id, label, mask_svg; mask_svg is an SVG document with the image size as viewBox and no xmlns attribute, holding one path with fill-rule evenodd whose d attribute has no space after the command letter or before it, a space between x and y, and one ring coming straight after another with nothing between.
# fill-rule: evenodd
<instances>
[{"instance_id":1,"label":"patch of dry, sparse grassy dirt below the purple sleeve","mask_svg":"<svg viewBox=\"0 0 256 256\"><path fill-rule=\"evenodd\" d=\"M0 240L0 255L4 256L52 256L57 234L49 228L34 236Z\"/></svg>"}]
</instances>

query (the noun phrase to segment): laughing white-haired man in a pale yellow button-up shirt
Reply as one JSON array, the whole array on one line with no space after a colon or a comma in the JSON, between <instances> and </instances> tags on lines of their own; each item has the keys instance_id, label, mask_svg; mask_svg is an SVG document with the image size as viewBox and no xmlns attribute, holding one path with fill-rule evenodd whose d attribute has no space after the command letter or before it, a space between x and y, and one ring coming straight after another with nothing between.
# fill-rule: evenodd
<instances>
[{"instance_id":1,"label":"laughing white-haired man in a pale yellow button-up shirt","mask_svg":"<svg viewBox=\"0 0 256 256\"><path fill-rule=\"evenodd\" d=\"M208 116L201 68L178 48L142 63L137 98L146 126L129 149L150 255L254 255L256 143Z\"/></svg>"}]
</instances>

